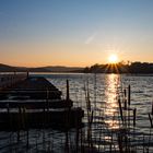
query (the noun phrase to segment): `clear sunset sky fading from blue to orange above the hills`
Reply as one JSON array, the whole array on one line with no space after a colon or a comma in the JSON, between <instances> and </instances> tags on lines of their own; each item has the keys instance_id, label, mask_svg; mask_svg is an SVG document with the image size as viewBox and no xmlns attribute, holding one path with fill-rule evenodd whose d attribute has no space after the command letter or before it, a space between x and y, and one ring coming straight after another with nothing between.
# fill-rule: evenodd
<instances>
[{"instance_id":1,"label":"clear sunset sky fading from blue to orange above the hills","mask_svg":"<svg viewBox=\"0 0 153 153\"><path fill-rule=\"evenodd\" d=\"M153 62L153 0L0 0L0 63Z\"/></svg>"}]
</instances>

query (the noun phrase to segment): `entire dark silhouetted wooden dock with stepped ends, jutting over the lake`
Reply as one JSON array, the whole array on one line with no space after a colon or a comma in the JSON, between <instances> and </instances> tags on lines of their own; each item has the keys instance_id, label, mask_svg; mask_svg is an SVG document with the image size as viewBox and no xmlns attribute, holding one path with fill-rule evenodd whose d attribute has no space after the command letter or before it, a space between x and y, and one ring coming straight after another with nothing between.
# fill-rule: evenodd
<instances>
[{"instance_id":1,"label":"entire dark silhouetted wooden dock with stepped ends, jutting over the lake","mask_svg":"<svg viewBox=\"0 0 153 153\"><path fill-rule=\"evenodd\" d=\"M45 78L24 75L9 82L0 91L0 130L64 129L82 125L84 111L73 108L69 93L62 99L61 92Z\"/></svg>"}]
</instances>

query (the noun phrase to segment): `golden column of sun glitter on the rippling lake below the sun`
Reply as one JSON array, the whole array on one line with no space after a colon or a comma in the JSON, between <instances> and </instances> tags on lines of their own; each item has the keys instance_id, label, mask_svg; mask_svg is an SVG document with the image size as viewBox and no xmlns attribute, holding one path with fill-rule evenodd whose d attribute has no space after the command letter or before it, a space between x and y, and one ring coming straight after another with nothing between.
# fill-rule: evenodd
<instances>
[{"instance_id":1,"label":"golden column of sun glitter on the rippling lake below the sun","mask_svg":"<svg viewBox=\"0 0 153 153\"><path fill-rule=\"evenodd\" d=\"M107 74L105 79L106 90L105 90L105 121L108 123L108 127L111 129L118 129L118 95L120 87L120 75L119 74Z\"/></svg>"}]
</instances>

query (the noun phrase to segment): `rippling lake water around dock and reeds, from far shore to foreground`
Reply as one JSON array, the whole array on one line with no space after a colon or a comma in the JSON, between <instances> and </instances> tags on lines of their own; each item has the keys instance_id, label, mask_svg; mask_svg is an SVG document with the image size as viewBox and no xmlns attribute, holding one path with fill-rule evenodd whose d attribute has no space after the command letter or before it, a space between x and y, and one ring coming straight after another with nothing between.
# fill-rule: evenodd
<instances>
[{"instance_id":1,"label":"rippling lake water around dock and reeds, from far shore to foreground","mask_svg":"<svg viewBox=\"0 0 153 153\"><path fill-rule=\"evenodd\" d=\"M89 92L91 108L93 110L92 140L94 148L99 152L117 150L117 138L113 131L120 128L120 114L118 98L122 99L122 91L131 85L130 108L137 108L137 122L130 122L130 142L136 144L137 152L152 152L144 149L144 142L153 145L153 133L149 120L149 113L153 102L153 76L150 75L118 75L118 74L83 74L83 73L35 73L32 75L45 76L63 93L66 97L66 81L70 84L70 98L74 107L85 110L83 122L84 137L87 136L86 96ZM132 113L130 113L132 120ZM103 122L103 123L102 123ZM105 122L105 123L104 123ZM75 151L75 129L69 132L71 151ZM23 131L20 142L16 133L0 132L0 152L64 152L66 134L57 130L31 130L30 148L26 149L26 133ZM84 138L85 140L86 138ZM114 140L113 140L114 139ZM113 145L104 145L106 142ZM143 146L140 146L142 145ZM111 149L110 149L111 148ZM149 146L148 146L149 148Z\"/></svg>"}]
</instances>

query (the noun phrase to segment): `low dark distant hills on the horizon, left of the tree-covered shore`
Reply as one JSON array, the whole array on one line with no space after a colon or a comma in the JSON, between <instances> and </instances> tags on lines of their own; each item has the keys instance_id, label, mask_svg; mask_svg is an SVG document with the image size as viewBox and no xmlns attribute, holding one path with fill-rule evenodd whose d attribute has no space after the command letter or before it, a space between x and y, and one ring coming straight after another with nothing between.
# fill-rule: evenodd
<instances>
[{"instance_id":1,"label":"low dark distant hills on the horizon, left of the tree-covered shore","mask_svg":"<svg viewBox=\"0 0 153 153\"><path fill-rule=\"evenodd\" d=\"M26 68L26 67L13 67L0 63L0 72L82 72L84 68L79 67L61 67L61 66L50 66L50 67L37 67L37 68Z\"/></svg>"}]
</instances>

